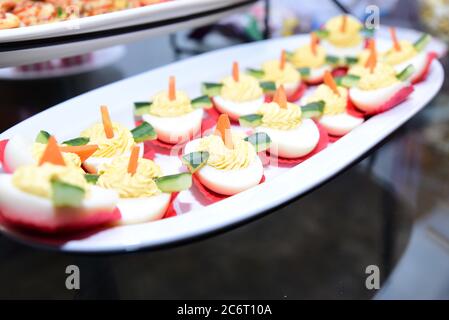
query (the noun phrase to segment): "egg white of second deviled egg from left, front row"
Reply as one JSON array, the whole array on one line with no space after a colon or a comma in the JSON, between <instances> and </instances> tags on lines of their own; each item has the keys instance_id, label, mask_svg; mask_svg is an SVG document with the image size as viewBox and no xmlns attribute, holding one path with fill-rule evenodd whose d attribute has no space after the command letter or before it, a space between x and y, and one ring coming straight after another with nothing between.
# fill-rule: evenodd
<instances>
[{"instance_id":1,"label":"egg white of second deviled egg from left, front row","mask_svg":"<svg viewBox=\"0 0 449 320\"><path fill-rule=\"evenodd\" d=\"M169 193L146 198L121 198L117 204L122 214L119 224L136 224L161 219L167 211L170 198Z\"/></svg>"}]
</instances>

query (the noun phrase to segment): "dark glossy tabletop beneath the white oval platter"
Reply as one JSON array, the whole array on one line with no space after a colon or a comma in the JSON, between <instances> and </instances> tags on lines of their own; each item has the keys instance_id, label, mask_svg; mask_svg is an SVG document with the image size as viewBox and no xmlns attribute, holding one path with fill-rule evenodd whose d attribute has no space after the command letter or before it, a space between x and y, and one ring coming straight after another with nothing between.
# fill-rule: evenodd
<instances>
[{"instance_id":1,"label":"dark glossy tabletop beneath the white oval platter","mask_svg":"<svg viewBox=\"0 0 449 320\"><path fill-rule=\"evenodd\" d=\"M1 81L0 130L172 60L162 37L134 44L118 64L88 74ZM440 219L449 212L447 110L446 85L375 157L263 219L200 242L86 257L35 250L0 236L0 298L372 298L377 292L365 287L366 267L379 266L384 283L406 250L413 224L426 221L436 207ZM438 241L417 238L437 248L432 261L412 262L414 269L422 264L423 279L444 277L433 266L447 259L449 251L439 249L445 232L438 230ZM79 291L65 287L71 264L81 270ZM395 297L404 283L413 286L408 278L389 283L387 297Z\"/></svg>"}]
</instances>

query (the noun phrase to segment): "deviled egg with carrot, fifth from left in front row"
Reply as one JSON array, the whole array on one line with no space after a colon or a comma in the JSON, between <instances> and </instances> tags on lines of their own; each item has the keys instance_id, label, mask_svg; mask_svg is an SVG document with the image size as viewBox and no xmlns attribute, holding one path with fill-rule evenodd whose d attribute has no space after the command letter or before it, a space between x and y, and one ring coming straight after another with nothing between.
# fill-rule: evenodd
<instances>
[{"instance_id":1,"label":"deviled egg with carrot, fifth from left in front row","mask_svg":"<svg viewBox=\"0 0 449 320\"><path fill-rule=\"evenodd\" d=\"M348 89L337 86L329 71L324 75L324 84L306 98L306 103L324 104L323 115L319 123L328 134L341 137L363 123L363 117L355 116L349 110ZM305 109L306 106L304 106ZM312 110L311 110L312 111Z\"/></svg>"}]
</instances>

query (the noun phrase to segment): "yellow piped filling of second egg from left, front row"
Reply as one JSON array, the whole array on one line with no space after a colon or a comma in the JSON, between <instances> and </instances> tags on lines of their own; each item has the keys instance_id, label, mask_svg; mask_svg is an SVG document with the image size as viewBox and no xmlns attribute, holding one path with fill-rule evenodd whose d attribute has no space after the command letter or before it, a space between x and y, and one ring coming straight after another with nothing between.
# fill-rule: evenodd
<instances>
[{"instance_id":1,"label":"yellow piped filling of second egg from left, front row","mask_svg":"<svg viewBox=\"0 0 449 320\"><path fill-rule=\"evenodd\" d=\"M101 165L97 185L117 191L121 198L144 198L161 193L154 181L162 175L157 164L140 158L136 173L131 175L128 173L128 163L129 156L120 156L110 164Z\"/></svg>"}]
</instances>

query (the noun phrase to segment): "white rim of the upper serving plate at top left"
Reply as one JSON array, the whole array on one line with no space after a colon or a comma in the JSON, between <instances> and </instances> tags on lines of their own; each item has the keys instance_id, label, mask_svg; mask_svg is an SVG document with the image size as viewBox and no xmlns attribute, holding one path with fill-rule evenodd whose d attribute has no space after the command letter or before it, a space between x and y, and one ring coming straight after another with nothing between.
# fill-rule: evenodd
<instances>
[{"instance_id":1,"label":"white rim of the upper serving plate at top left","mask_svg":"<svg viewBox=\"0 0 449 320\"><path fill-rule=\"evenodd\" d=\"M73 56L215 22L256 0L174 0L76 20L0 31L0 67Z\"/></svg>"}]
</instances>

